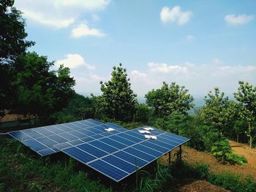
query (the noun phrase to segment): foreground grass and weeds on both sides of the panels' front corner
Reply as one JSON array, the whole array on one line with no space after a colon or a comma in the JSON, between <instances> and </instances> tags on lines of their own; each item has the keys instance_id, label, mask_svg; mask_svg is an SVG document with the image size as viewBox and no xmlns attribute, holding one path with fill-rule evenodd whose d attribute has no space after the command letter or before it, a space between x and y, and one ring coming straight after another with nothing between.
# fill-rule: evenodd
<instances>
[{"instance_id":1,"label":"foreground grass and weeds on both sides of the panels' front corner","mask_svg":"<svg viewBox=\"0 0 256 192\"><path fill-rule=\"evenodd\" d=\"M111 186L91 179L77 169L78 162L50 161L33 155L15 139L0 139L0 191L113 191ZM230 191L256 191L256 181L240 174L214 174L207 164L187 164L175 161L171 166L157 164L157 171L149 174L138 170L134 185L124 185L121 191L170 191L170 184L187 178L207 180Z\"/></svg>"}]
</instances>

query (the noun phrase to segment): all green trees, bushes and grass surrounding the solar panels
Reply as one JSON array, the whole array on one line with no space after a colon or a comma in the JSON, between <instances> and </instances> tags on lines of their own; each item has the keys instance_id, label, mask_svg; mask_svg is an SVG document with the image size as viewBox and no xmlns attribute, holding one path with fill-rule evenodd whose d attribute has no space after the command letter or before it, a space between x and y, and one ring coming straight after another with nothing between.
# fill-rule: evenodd
<instances>
[{"instance_id":1,"label":"all green trees, bushes and grass surrounding the solar panels","mask_svg":"<svg viewBox=\"0 0 256 192\"><path fill-rule=\"evenodd\" d=\"M176 82L163 82L161 88L146 93L146 104L138 104L127 71L119 64L113 67L109 81L100 82L102 95L81 96L73 89L75 80L69 68L61 65L52 70L53 61L27 52L34 42L26 40L26 23L13 4L0 0L0 118L10 111L37 118L40 126L86 118L127 128L146 124L190 138L190 147L212 153L223 164L246 163L243 156L233 154L227 139L249 142L253 147L255 86L239 82L234 100L214 88L203 107L191 115L188 111L194 107L193 96ZM111 191L76 169L72 159L51 163L49 158L35 158L12 139L0 144L0 191ZM143 177L134 191L160 191L167 182L184 177L208 180L231 191L256 191L251 177L243 180L239 175L214 174L205 164L192 166L176 161L170 167L158 165L156 174L138 174Z\"/></svg>"}]
</instances>

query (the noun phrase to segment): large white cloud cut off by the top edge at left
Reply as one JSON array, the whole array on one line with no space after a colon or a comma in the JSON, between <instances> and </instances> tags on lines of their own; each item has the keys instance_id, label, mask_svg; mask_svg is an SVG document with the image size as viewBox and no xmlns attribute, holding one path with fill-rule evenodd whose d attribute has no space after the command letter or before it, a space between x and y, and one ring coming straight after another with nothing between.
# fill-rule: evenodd
<instances>
[{"instance_id":1,"label":"large white cloud cut off by the top edge at left","mask_svg":"<svg viewBox=\"0 0 256 192\"><path fill-rule=\"evenodd\" d=\"M109 0L16 0L15 7L29 21L53 28L67 28L82 13L105 9L109 3Z\"/></svg>"}]
</instances>

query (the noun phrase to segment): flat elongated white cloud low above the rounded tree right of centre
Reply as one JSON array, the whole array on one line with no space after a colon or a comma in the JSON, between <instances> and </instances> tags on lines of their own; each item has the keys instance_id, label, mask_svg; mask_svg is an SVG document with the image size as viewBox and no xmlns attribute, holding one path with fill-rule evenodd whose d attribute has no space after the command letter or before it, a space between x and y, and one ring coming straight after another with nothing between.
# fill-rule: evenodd
<instances>
[{"instance_id":1,"label":"flat elongated white cloud low above the rounded tree right of centre","mask_svg":"<svg viewBox=\"0 0 256 192\"><path fill-rule=\"evenodd\" d=\"M159 73L184 73L187 74L187 66L180 66L180 65L168 65L168 64L161 64L161 63L154 63L149 62L148 67L152 72L159 72Z\"/></svg>"}]
</instances>

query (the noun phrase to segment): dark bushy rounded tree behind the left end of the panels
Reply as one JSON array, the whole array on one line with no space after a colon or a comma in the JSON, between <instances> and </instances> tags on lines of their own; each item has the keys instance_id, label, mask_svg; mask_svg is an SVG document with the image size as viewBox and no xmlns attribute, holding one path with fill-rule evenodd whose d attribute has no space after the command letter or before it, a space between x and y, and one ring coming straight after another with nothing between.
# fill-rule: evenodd
<instances>
[{"instance_id":1,"label":"dark bushy rounded tree behind the left end of the panels","mask_svg":"<svg viewBox=\"0 0 256 192\"><path fill-rule=\"evenodd\" d=\"M75 80L69 77L68 68L61 65L58 71L50 71L50 66L53 62L34 52L17 58L12 82L17 95L14 110L45 122L54 112L67 107L75 93Z\"/></svg>"}]
</instances>

